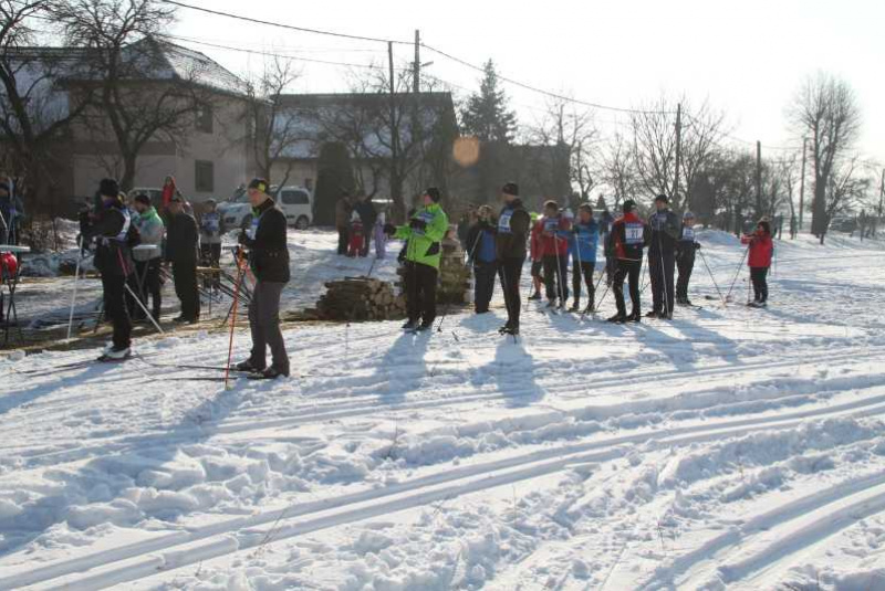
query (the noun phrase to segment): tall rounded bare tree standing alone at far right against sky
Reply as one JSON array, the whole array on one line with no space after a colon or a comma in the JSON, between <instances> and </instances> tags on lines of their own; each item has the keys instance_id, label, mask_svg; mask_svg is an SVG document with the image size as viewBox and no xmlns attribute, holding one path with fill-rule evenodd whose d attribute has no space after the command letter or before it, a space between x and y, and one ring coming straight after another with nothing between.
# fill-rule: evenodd
<instances>
[{"instance_id":1,"label":"tall rounded bare tree standing alone at far right against sky","mask_svg":"<svg viewBox=\"0 0 885 591\"><path fill-rule=\"evenodd\" d=\"M811 232L823 243L830 225L830 203L842 200L827 198L827 190L845 187L834 175L845 166L846 154L857 140L861 109L845 81L819 72L802 83L790 105L790 117L796 131L811 140L814 170Z\"/></svg>"}]
</instances>

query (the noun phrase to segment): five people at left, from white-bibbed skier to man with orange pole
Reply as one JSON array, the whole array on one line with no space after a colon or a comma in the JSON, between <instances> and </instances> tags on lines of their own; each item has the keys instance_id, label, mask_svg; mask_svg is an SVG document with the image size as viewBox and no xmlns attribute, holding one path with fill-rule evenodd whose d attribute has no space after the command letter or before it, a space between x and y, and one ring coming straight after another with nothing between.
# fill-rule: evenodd
<instances>
[{"instance_id":1,"label":"five people at left, from white-bibbed skier to man with orange pole","mask_svg":"<svg viewBox=\"0 0 885 591\"><path fill-rule=\"evenodd\" d=\"M253 208L251 225L239 234L240 253L244 253L249 272L254 277L249 305L253 347L247 360L236 369L251 378L272 379L289 374L289 358L280 330L280 295L289 282L289 250L285 214L268 194L269 184L254 179L248 188ZM129 207L119 184L103 179L98 184L100 207L83 223L82 240L95 242L95 267L101 272L104 312L114 327L113 340L103 360L122 360L131 355L132 320L146 317L147 298L156 320L160 314L160 266L171 264L171 273L181 314L178 323L196 323L200 314L197 285L197 261L202 254L215 265L221 254L221 217L214 200L205 203L199 222L186 209L180 193L173 193L166 207L167 223L146 194L137 194ZM164 240L165 236L165 240ZM243 254L238 254L238 266ZM244 271L244 266L240 267ZM135 277L139 279L135 279ZM140 278L144 277L144 282ZM133 304L137 305L134 306ZM272 365L267 363L268 347Z\"/></svg>"}]
</instances>

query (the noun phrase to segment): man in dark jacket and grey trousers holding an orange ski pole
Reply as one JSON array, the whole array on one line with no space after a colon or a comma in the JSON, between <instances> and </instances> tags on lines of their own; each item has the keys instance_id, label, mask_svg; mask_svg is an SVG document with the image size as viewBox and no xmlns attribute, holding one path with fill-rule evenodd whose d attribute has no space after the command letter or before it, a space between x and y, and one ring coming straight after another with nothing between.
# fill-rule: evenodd
<instances>
[{"instance_id":1,"label":"man in dark jacket and grey trousers holding an orange ski pole","mask_svg":"<svg viewBox=\"0 0 885 591\"><path fill-rule=\"evenodd\" d=\"M249 251L249 266L257 279L249 303L252 350L249 359L236 368L251 372L251 379L288 378L289 356L280 330L280 295L289 283L285 214L267 193L264 179L253 179L248 191L252 225L240 233L240 244ZM267 367L268 347L272 357L270 367Z\"/></svg>"}]
</instances>

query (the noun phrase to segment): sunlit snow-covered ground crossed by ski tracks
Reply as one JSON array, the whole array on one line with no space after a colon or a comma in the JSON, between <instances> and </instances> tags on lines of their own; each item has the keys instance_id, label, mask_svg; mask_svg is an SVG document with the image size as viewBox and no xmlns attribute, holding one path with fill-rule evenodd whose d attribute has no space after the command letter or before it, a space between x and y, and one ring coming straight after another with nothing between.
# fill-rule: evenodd
<instances>
[{"instance_id":1,"label":"sunlit snow-covered ground crossed by ski tracks","mask_svg":"<svg viewBox=\"0 0 885 591\"><path fill-rule=\"evenodd\" d=\"M368 264L292 240L295 304ZM516 344L500 299L299 326L298 376L231 390L175 367L217 333L0 361L0 589L885 589L884 254L779 242L767 310L699 258L671 323L527 305Z\"/></svg>"}]
</instances>

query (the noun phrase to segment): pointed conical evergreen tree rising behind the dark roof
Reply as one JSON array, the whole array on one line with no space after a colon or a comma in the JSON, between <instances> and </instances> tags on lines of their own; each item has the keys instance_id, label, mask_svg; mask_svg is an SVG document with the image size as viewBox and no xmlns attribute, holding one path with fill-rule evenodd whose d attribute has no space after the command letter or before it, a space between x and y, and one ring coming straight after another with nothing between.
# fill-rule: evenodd
<instances>
[{"instance_id":1,"label":"pointed conical evergreen tree rising behind the dark roof","mask_svg":"<svg viewBox=\"0 0 885 591\"><path fill-rule=\"evenodd\" d=\"M483 68L486 74L479 93L467 99L461 112L465 134L482 143L510 144L517 130L517 115L507 107L507 95L499 88L494 63L489 60Z\"/></svg>"}]
</instances>

